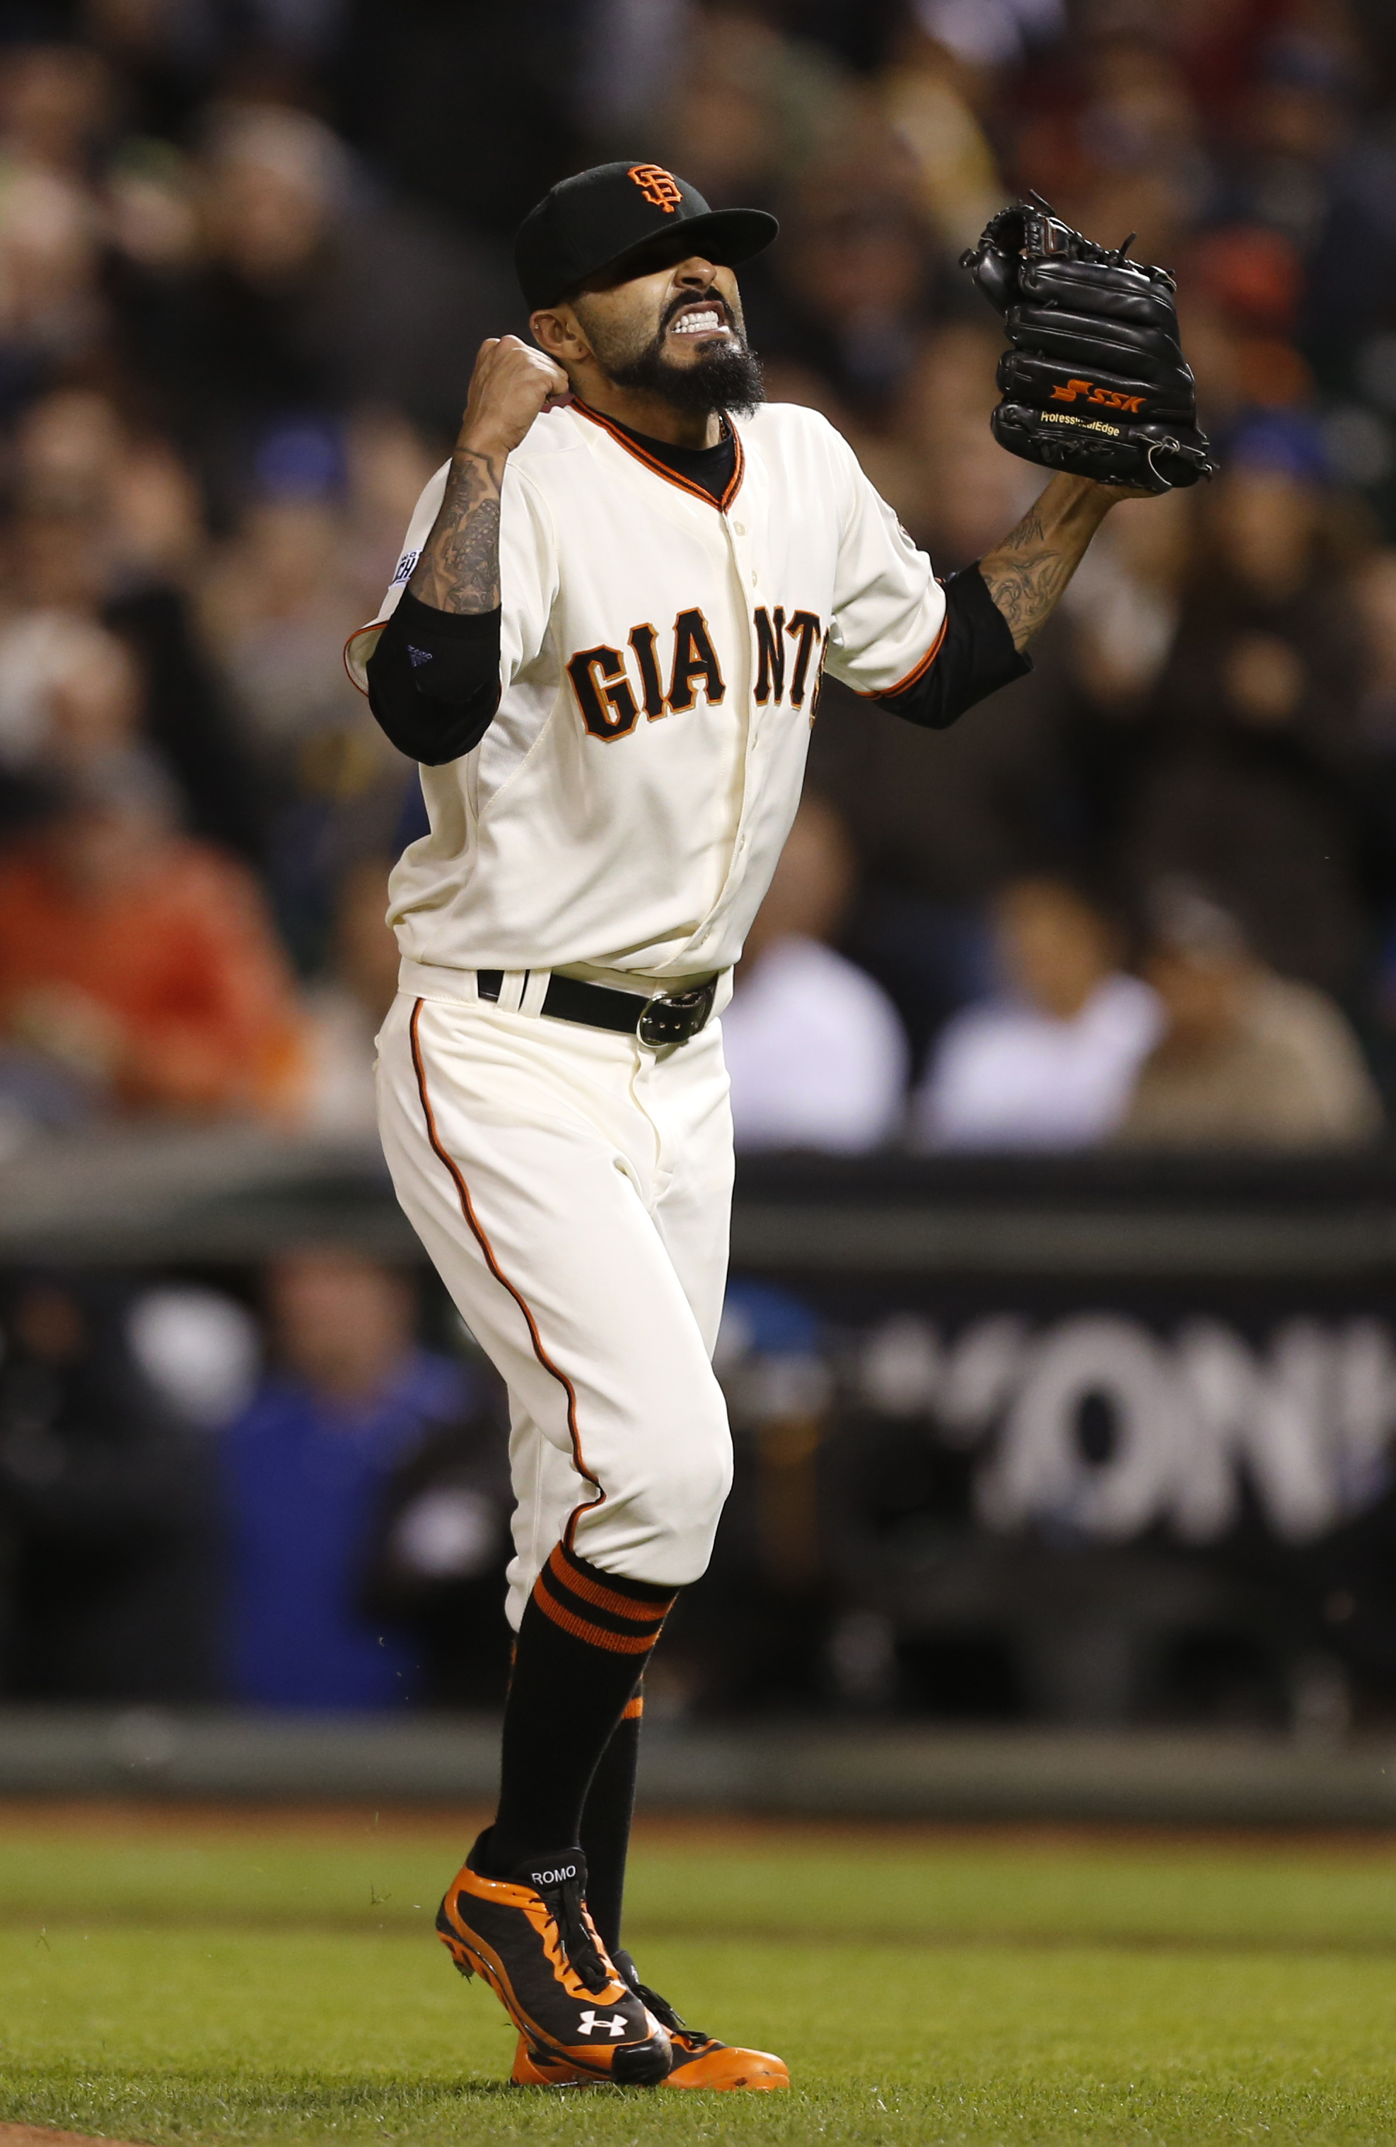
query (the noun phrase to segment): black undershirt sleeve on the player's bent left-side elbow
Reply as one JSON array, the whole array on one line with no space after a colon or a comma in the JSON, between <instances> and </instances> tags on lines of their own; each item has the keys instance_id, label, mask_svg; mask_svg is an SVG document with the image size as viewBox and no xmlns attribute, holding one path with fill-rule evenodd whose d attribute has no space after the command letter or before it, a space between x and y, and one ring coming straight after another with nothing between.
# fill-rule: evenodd
<instances>
[{"instance_id":1,"label":"black undershirt sleeve on the player's bent left-side elbow","mask_svg":"<svg viewBox=\"0 0 1396 2147\"><path fill-rule=\"evenodd\" d=\"M404 588L367 661L369 709L399 754L438 769L498 709L500 612L438 612Z\"/></svg>"}]
</instances>

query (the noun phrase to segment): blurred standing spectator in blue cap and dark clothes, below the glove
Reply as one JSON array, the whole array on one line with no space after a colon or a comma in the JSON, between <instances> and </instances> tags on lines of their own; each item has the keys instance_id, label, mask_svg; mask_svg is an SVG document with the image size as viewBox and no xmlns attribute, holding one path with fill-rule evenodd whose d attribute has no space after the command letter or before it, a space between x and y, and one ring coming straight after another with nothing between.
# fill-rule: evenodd
<instances>
[{"instance_id":1,"label":"blurred standing spectator in blue cap and dark clothes, below the glove","mask_svg":"<svg viewBox=\"0 0 1396 2147\"><path fill-rule=\"evenodd\" d=\"M1136 775L1113 814L1132 893L1173 874L1218 891L1282 975L1351 992L1366 955L1359 633L1362 526L1317 425L1250 419L1216 485Z\"/></svg>"}]
</instances>

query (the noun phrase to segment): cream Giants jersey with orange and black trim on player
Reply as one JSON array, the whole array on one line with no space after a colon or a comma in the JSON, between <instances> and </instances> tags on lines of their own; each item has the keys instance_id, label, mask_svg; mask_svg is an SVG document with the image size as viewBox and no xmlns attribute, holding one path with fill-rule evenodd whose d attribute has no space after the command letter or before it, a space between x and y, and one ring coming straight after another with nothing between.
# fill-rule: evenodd
<instances>
[{"instance_id":1,"label":"cream Giants jersey with orange and black trim on player","mask_svg":"<svg viewBox=\"0 0 1396 2147\"><path fill-rule=\"evenodd\" d=\"M930 560L814 410L732 419L719 502L582 404L543 412L500 502L500 704L421 771L391 878L402 953L445 970L730 968L805 771L820 670L911 685L945 631ZM440 511L425 487L357 685Z\"/></svg>"}]
</instances>

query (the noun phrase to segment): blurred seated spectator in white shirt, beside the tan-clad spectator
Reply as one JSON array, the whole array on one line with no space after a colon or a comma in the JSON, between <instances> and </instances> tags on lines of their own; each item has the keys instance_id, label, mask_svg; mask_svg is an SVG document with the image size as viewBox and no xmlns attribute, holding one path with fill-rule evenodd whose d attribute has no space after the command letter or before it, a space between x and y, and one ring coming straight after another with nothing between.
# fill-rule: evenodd
<instances>
[{"instance_id":1,"label":"blurred seated spectator in white shirt, beside the tan-clad spectator","mask_svg":"<svg viewBox=\"0 0 1396 2147\"><path fill-rule=\"evenodd\" d=\"M1014 880L994 904L1003 990L941 1033L915 1104L928 1149L1080 1149L1108 1140L1160 1005L1119 968L1119 936L1065 880Z\"/></svg>"}]
</instances>

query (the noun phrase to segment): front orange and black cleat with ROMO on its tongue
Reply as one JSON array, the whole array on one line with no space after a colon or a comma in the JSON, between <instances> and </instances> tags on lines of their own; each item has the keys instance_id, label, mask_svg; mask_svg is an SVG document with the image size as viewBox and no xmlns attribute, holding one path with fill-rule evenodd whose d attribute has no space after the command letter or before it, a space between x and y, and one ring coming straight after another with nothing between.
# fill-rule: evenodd
<instances>
[{"instance_id":1,"label":"front orange and black cleat with ROMO on its tongue","mask_svg":"<svg viewBox=\"0 0 1396 2147\"><path fill-rule=\"evenodd\" d=\"M447 1887L436 1930L462 1975L481 1975L530 2050L578 2078L657 2087L668 2029L616 1973L586 1913L580 1849L526 1864L507 1879L475 1870L479 1842Z\"/></svg>"}]
</instances>

